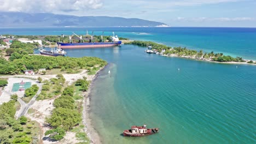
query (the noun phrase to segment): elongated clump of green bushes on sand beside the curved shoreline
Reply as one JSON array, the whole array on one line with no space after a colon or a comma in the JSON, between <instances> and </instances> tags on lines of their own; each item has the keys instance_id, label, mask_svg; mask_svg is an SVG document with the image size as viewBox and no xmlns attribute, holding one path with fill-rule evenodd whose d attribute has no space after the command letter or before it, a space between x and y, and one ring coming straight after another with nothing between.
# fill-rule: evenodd
<instances>
[{"instance_id":1,"label":"elongated clump of green bushes on sand beside the curved shoreline","mask_svg":"<svg viewBox=\"0 0 256 144\"><path fill-rule=\"evenodd\" d=\"M58 76L59 79L62 76ZM80 80L78 85L83 85L85 80ZM55 109L53 114L46 118L51 127L54 129L48 130L45 132L45 135L50 135L49 137L53 140L61 140L65 135L65 131L71 130L75 125L78 125L82 121L82 115L78 110L75 110L75 101L73 99L75 87L68 86L66 87L61 97L54 100Z\"/></svg>"}]
</instances>

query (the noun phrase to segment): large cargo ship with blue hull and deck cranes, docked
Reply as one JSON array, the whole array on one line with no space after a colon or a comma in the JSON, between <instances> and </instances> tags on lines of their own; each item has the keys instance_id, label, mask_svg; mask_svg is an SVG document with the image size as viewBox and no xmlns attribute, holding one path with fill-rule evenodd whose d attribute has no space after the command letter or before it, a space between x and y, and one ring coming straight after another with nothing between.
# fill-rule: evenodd
<instances>
[{"instance_id":1,"label":"large cargo ship with blue hull and deck cranes, docked","mask_svg":"<svg viewBox=\"0 0 256 144\"><path fill-rule=\"evenodd\" d=\"M110 42L94 42L93 37L91 36L90 41L91 42L83 42L82 35L80 37L76 35L79 38L80 43L72 43L72 37L73 35L69 36L69 43L61 43L58 42L57 44L60 45L61 49L83 49L83 48L93 48L93 47L109 47L109 46L115 46L115 45L120 45L122 41L119 40L118 35L114 35L113 32L113 37L111 37ZM93 35L93 34L92 34ZM103 35L101 35L102 41L103 40Z\"/></svg>"}]
</instances>

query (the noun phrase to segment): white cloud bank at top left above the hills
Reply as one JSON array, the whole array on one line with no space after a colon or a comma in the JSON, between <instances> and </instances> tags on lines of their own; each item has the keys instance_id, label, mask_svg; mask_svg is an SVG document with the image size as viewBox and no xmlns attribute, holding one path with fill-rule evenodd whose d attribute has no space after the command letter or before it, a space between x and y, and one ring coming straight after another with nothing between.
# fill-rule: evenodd
<instances>
[{"instance_id":1,"label":"white cloud bank at top left above the hills","mask_svg":"<svg viewBox=\"0 0 256 144\"><path fill-rule=\"evenodd\" d=\"M78 11L101 8L103 5L102 1L103 0L0 0L0 10L27 13Z\"/></svg>"}]
</instances>

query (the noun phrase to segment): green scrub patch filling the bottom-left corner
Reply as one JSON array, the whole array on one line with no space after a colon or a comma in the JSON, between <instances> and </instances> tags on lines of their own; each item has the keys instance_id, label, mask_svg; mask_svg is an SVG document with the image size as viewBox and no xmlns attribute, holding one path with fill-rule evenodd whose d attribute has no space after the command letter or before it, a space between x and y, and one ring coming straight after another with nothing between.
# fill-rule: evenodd
<instances>
[{"instance_id":1,"label":"green scrub patch filling the bottom-left corner","mask_svg":"<svg viewBox=\"0 0 256 144\"><path fill-rule=\"evenodd\" d=\"M0 105L0 143L38 143L39 125L25 116L15 120L15 100Z\"/></svg>"}]
</instances>

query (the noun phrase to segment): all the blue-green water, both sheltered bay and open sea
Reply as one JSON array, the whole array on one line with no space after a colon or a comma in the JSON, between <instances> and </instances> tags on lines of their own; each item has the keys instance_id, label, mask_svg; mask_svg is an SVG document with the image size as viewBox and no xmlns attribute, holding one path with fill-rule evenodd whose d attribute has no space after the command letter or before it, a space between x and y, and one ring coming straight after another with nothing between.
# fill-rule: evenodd
<instances>
[{"instance_id":1,"label":"all the blue-green water, both sheltered bay and open sea","mask_svg":"<svg viewBox=\"0 0 256 144\"><path fill-rule=\"evenodd\" d=\"M86 29L256 60L256 28L0 28L0 34L80 35ZM67 50L71 57L109 63L94 82L90 102L89 117L103 143L256 143L255 65L150 55L145 49ZM120 135L142 124L160 132Z\"/></svg>"}]
</instances>

